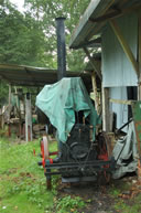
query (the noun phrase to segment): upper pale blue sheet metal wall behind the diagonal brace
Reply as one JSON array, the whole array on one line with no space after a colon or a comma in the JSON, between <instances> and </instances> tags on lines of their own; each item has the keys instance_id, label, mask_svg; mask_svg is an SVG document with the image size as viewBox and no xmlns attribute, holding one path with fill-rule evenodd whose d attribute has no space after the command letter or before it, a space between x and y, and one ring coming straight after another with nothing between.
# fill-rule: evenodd
<instances>
[{"instance_id":1,"label":"upper pale blue sheet metal wall behind the diagonal brace","mask_svg":"<svg viewBox=\"0 0 141 213\"><path fill-rule=\"evenodd\" d=\"M135 14L117 19L124 39L137 58L138 49L138 18ZM124 54L110 25L102 35L102 84L104 87L137 86L138 78L131 62Z\"/></svg>"}]
</instances>

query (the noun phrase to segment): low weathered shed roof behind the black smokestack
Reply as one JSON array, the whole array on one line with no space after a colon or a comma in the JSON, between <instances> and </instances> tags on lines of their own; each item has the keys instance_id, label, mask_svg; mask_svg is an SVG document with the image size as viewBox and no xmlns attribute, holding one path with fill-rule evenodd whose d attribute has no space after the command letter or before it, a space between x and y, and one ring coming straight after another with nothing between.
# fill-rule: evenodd
<instances>
[{"instance_id":1,"label":"low weathered shed roof behind the black smokestack","mask_svg":"<svg viewBox=\"0 0 141 213\"><path fill-rule=\"evenodd\" d=\"M67 77L82 76L85 84L90 84L90 75L80 72L67 72ZM57 70L13 64L0 64L0 77L11 85L44 86L57 82Z\"/></svg>"}]
</instances>

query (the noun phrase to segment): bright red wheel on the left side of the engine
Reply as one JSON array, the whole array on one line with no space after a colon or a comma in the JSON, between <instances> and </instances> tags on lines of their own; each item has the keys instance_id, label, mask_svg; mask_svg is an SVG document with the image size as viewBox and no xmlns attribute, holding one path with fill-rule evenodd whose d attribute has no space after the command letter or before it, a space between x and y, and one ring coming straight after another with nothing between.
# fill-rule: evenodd
<instances>
[{"instance_id":1,"label":"bright red wheel on the left side of the engine","mask_svg":"<svg viewBox=\"0 0 141 213\"><path fill-rule=\"evenodd\" d=\"M44 167L44 173L46 171L50 172L50 169L45 169L45 160L50 159L50 151L48 151L48 139L47 136L43 136L43 140L41 141L41 152L43 158L43 167ZM50 190L52 188L51 185L51 175L46 175L46 188Z\"/></svg>"}]
</instances>

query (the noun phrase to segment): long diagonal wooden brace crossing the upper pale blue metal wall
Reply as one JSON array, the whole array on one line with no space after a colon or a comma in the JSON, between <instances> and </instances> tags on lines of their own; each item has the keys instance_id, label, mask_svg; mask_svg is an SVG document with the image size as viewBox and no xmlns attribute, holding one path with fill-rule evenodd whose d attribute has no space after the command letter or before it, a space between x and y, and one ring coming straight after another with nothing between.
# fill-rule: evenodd
<instances>
[{"instance_id":1,"label":"long diagonal wooden brace crossing the upper pale blue metal wall","mask_svg":"<svg viewBox=\"0 0 141 213\"><path fill-rule=\"evenodd\" d=\"M133 70L135 71L137 75L139 75L139 65L138 62L135 61L135 57L129 46L129 44L127 43L124 36L122 35L122 32L117 23L116 20L110 20L109 21L119 43L121 44L127 57L129 58L129 61L131 62Z\"/></svg>"}]
</instances>

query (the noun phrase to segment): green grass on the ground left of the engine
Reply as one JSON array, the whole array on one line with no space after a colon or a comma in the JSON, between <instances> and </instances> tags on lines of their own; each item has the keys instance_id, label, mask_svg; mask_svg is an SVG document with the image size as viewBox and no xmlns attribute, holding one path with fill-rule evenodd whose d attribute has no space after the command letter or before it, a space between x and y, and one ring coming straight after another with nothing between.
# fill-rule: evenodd
<instances>
[{"instance_id":1,"label":"green grass on the ground left of the engine","mask_svg":"<svg viewBox=\"0 0 141 213\"><path fill-rule=\"evenodd\" d=\"M79 196L61 198L57 194L58 177L53 177L52 191L46 191L41 160L40 142L10 142L0 138L0 213L66 213L77 212L85 205ZM50 151L57 149L50 143ZM34 156L35 151L35 156Z\"/></svg>"}]
</instances>

